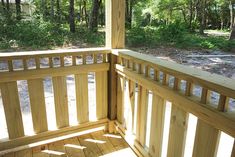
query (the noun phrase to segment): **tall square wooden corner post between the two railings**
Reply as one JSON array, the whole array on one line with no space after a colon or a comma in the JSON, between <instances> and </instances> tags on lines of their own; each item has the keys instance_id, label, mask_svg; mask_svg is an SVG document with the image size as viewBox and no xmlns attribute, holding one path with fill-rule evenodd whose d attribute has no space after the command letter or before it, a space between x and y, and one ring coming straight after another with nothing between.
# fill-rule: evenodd
<instances>
[{"instance_id":1,"label":"tall square wooden corner post between the two railings","mask_svg":"<svg viewBox=\"0 0 235 157\"><path fill-rule=\"evenodd\" d=\"M122 49L125 47L125 0L105 0L106 8L106 47ZM117 74L115 64L117 56L110 54L110 70L108 81L108 117L117 116Z\"/></svg>"}]
</instances>

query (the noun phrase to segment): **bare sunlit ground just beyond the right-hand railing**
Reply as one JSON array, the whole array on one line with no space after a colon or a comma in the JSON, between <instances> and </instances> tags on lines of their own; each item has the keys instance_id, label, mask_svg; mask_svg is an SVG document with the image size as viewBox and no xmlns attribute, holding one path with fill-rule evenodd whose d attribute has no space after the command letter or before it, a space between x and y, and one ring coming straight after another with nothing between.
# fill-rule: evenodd
<instances>
[{"instance_id":1,"label":"bare sunlit ground just beyond the right-hand railing","mask_svg":"<svg viewBox=\"0 0 235 157\"><path fill-rule=\"evenodd\" d=\"M156 58L195 67L235 79L235 54L212 50L182 50L176 48L131 48ZM196 56L196 57L195 57Z\"/></svg>"}]
</instances>

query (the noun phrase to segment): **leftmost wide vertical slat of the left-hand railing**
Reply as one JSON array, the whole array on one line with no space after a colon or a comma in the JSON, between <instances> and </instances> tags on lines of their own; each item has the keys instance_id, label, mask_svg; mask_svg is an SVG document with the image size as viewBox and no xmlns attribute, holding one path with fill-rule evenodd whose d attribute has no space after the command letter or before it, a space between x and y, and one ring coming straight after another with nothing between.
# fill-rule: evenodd
<instances>
[{"instance_id":1,"label":"leftmost wide vertical slat of the left-hand railing","mask_svg":"<svg viewBox=\"0 0 235 157\"><path fill-rule=\"evenodd\" d=\"M24 127L20 110L18 88L16 82L0 84L2 101L6 116L10 139L24 136Z\"/></svg>"}]
</instances>

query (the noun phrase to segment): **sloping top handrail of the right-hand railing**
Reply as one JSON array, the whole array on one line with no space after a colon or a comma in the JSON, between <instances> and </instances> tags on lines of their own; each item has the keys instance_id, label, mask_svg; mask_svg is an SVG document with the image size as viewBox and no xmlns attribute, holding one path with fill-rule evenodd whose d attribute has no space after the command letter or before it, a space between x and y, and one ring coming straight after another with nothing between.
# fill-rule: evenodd
<instances>
[{"instance_id":1,"label":"sloping top handrail of the right-hand railing","mask_svg":"<svg viewBox=\"0 0 235 157\"><path fill-rule=\"evenodd\" d=\"M235 98L235 80L233 79L202 71L200 69L161 60L131 50L116 49L112 50L112 53L125 59L135 61L139 64L146 64L179 79L201 85L208 90L218 92L230 98Z\"/></svg>"}]
</instances>

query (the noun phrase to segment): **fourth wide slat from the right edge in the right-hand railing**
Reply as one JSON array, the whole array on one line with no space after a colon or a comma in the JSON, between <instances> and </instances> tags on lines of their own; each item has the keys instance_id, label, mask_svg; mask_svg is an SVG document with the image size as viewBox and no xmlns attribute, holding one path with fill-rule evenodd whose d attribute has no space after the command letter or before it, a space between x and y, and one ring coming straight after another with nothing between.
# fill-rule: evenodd
<instances>
[{"instance_id":1,"label":"fourth wide slat from the right edge in the right-hand railing","mask_svg":"<svg viewBox=\"0 0 235 157\"><path fill-rule=\"evenodd\" d=\"M146 140L147 111L148 111L148 90L142 86L141 88L141 106L140 106L140 144L144 147ZM138 123L138 122L137 122Z\"/></svg>"}]
</instances>

